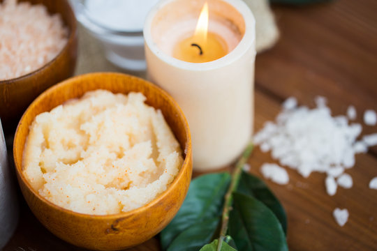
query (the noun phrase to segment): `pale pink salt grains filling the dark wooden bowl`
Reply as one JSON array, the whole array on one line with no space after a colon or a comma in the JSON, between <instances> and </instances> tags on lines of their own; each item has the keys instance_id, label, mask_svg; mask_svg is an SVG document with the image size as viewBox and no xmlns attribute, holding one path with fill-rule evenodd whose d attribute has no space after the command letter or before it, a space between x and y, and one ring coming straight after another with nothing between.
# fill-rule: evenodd
<instances>
[{"instance_id":1,"label":"pale pink salt grains filling the dark wooden bowl","mask_svg":"<svg viewBox=\"0 0 377 251\"><path fill-rule=\"evenodd\" d=\"M60 15L41 4L0 3L0 81L27 75L52 61L66 45L68 29Z\"/></svg>"}]
</instances>

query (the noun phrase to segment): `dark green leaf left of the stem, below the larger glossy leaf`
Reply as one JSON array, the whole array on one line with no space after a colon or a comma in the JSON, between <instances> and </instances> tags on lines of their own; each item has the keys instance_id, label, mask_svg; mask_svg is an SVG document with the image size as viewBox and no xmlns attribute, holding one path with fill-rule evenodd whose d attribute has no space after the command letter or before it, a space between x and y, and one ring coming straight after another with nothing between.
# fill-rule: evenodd
<instances>
[{"instance_id":1,"label":"dark green leaf left of the stem, below the larger glossy leaf","mask_svg":"<svg viewBox=\"0 0 377 251\"><path fill-rule=\"evenodd\" d=\"M212 240L214 231L221 218L209 218L188 227L172 241L168 251L197 251Z\"/></svg>"}]
</instances>

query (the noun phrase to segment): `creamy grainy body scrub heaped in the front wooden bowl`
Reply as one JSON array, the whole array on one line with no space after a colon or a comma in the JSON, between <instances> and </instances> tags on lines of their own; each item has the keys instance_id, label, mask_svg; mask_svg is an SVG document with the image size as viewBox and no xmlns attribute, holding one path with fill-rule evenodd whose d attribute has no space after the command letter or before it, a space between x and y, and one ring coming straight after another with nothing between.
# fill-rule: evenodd
<instances>
[{"instance_id":1,"label":"creamy grainy body scrub heaped in the front wooden bowl","mask_svg":"<svg viewBox=\"0 0 377 251\"><path fill-rule=\"evenodd\" d=\"M78 213L139 208L165 191L182 150L160 110L141 93L90 91L30 126L24 175L40 195Z\"/></svg>"}]
</instances>

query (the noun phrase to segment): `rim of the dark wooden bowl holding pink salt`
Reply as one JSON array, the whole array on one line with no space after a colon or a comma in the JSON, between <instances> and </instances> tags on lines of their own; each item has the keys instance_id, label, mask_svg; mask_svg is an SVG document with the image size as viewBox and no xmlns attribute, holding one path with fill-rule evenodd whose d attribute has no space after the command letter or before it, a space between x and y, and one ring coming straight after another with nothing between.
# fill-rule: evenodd
<instances>
[{"instance_id":1,"label":"rim of the dark wooden bowl holding pink salt","mask_svg":"<svg viewBox=\"0 0 377 251\"><path fill-rule=\"evenodd\" d=\"M36 73L39 73L43 70L45 70L46 68L49 68L50 65L52 65L52 63L56 62L59 58L61 58L62 54L68 50L68 47L70 47L73 43L73 40L75 39L75 36L76 36L76 33L77 33L77 19L76 19L76 16L75 16L75 13L73 12L73 9L72 9L72 6L71 6L71 3L69 3L69 0L63 0L63 1L66 1L66 3L68 4L68 10L71 12L71 14L73 15L73 24L72 24L72 27L68 26L68 24L66 24L64 22L64 24L66 26L68 26L69 28L69 35L68 35L68 40L67 40L67 43L66 45L64 45L63 48L61 48L60 52L54 56L53 59L51 59L50 61L48 61L47 63L45 63L45 65L43 65L42 67L36 69L36 70L33 70L32 72L30 73L27 73L25 75L22 75L20 77L15 77L15 78L11 78L11 79L3 79L3 80L0 80L0 85L3 85L3 84L13 84L15 82L18 82L22 79L27 79L28 77L31 77L31 75L35 75ZM38 4L42 4L43 3L38 3ZM51 13L49 13L51 14ZM56 13L54 13L56 14ZM61 15L61 13L59 13L59 15Z\"/></svg>"}]
</instances>

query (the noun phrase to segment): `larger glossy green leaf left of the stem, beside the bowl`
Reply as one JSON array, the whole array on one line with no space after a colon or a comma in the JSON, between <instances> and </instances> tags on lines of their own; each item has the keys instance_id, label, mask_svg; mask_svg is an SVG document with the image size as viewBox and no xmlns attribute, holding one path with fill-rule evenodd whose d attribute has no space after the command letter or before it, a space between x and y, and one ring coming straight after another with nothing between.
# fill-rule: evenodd
<instances>
[{"instance_id":1,"label":"larger glossy green leaf left of the stem, beside the bowl","mask_svg":"<svg viewBox=\"0 0 377 251\"><path fill-rule=\"evenodd\" d=\"M182 207L168 227L161 232L161 248L167 250L175 238L188 227L219 217L229 183L228 173L206 174L193 179ZM198 229L198 235L200 234Z\"/></svg>"}]
</instances>

